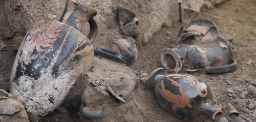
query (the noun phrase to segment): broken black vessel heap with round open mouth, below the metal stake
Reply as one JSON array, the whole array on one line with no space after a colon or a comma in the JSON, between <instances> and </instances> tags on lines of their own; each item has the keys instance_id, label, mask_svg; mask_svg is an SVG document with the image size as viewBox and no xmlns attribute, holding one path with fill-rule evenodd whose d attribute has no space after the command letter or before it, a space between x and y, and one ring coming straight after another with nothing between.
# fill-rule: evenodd
<instances>
[{"instance_id":1,"label":"broken black vessel heap with round open mouth, below the metal stake","mask_svg":"<svg viewBox=\"0 0 256 122\"><path fill-rule=\"evenodd\" d=\"M175 44L172 49L164 49L161 53L161 64L171 73L178 73L182 69L182 65L178 65L182 61L187 69L205 67L206 73L226 73L237 68L229 44L218 36L215 24L209 20L191 21ZM228 65L222 66L226 62Z\"/></svg>"}]
</instances>

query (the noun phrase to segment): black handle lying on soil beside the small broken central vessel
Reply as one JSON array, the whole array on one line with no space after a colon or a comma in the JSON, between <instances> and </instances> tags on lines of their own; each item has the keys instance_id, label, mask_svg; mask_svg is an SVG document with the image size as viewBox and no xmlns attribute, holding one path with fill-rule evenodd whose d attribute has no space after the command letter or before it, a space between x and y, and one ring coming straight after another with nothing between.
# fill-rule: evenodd
<instances>
[{"instance_id":1,"label":"black handle lying on soil beside the small broken central vessel","mask_svg":"<svg viewBox=\"0 0 256 122\"><path fill-rule=\"evenodd\" d=\"M94 55L100 55L102 57L106 57L114 60L115 62L126 63L121 57L122 55L116 50L106 48L106 47L97 47L94 49Z\"/></svg>"}]
</instances>

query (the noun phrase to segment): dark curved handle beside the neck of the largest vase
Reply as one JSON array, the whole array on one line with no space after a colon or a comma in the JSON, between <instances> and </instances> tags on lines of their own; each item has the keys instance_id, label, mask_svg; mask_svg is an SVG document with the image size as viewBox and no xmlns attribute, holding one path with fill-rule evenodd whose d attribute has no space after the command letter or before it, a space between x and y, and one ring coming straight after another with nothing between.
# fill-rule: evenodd
<instances>
[{"instance_id":1,"label":"dark curved handle beside the neck of the largest vase","mask_svg":"<svg viewBox=\"0 0 256 122\"><path fill-rule=\"evenodd\" d=\"M90 24L90 32L89 32L87 38L91 41L91 43L93 43L94 39L96 38L96 36L98 34L98 25L93 18L91 18L88 22Z\"/></svg>"}]
</instances>

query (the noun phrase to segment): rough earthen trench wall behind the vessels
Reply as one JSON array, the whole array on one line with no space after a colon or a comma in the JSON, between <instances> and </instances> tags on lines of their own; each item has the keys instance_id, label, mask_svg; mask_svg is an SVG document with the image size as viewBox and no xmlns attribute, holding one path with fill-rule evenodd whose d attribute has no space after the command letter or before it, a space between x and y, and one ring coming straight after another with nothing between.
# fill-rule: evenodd
<instances>
[{"instance_id":1,"label":"rough earthen trench wall behind the vessels","mask_svg":"<svg viewBox=\"0 0 256 122\"><path fill-rule=\"evenodd\" d=\"M109 47L111 39L120 37L120 25L118 24L118 7L124 7L136 14L139 19L140 36L138 41L145 44L161 26L172 25L178 21L178 3L176 0L98 0L85 1L90 7L97 10L95 20L98 23L98 36L94 46ZM196 11L213 7L225 0L191 0L184 1L182 6L193 8ZM24 37L28 29L37 21L44 19L47 14L55 14L60 18L66 0L5 0L0 2L0 40L15 40L16 37ZM120 37L122 38L122 37ZM22 38L18 38L18 43ZM17 39L16 39L17 40Z\"/></svg>"}]
</instances>

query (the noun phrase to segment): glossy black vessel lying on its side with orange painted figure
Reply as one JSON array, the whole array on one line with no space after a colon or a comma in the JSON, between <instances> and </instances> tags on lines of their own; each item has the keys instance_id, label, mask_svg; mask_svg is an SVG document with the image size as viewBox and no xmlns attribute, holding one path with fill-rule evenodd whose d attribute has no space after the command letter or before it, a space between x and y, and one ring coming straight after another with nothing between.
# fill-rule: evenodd
<instances>
[{"instance_id":1,"label":"glossy black vessel lying on its side with orange painted figure","mask_svg":"<svg viewBox=\"0 0 256 122\"><path fill-rule=\"evenodd\" d=\"M221 112L211 107L214 93L209 84L192 75L167 74L158 68L148 77L146 88L154 89L159 104L184 121L194 120L198 113L215 120Z\"/></svg>"}]
</instances>

